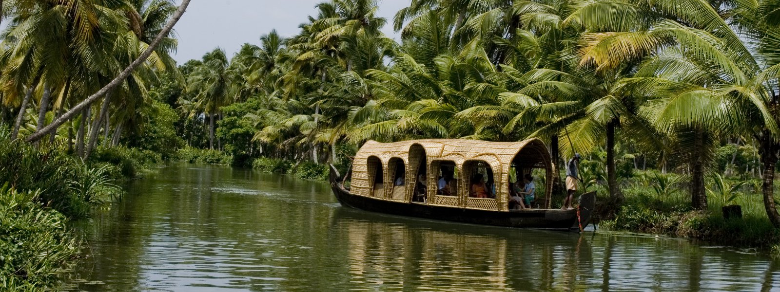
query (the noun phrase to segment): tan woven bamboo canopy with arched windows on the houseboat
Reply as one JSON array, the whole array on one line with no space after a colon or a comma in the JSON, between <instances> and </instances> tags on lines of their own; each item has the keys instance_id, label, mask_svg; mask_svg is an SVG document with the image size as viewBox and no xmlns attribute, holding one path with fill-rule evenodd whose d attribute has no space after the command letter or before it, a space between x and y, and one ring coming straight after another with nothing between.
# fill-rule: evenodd
<instances>
[{"instance_id":1,"label":"tan woven bamboo canopy with arched windows on the houseboat","mask_svg":"<svg viewBox=\"0 0 780 292\"><path fill-rule=\"evenodd\" d=\"M425 185L436 185L438 167L448 165L460 174L455 195L436 195L428 188L426 204L457 208L509 209L509 172L511 167L523 173L532 168L546 172L543 207L549 208L552 189L551 158L544 142L528 139L521 142L487 142L463 139L424 139L381 143L368 141L357 152L353 162L350 192L374 199L412 202L413 186L419 174L427 174ZM402 171L398 167L402 166ZM489 167L495 184L495 199L468 196L469 178L477 167ZM402 173L405 184L394 186L395 174ZM381 178L381 181L380 181ZM409 186L408 188L406 186ZM541 194L539 194L541 195Z\"/></svg>"}]
</instances>

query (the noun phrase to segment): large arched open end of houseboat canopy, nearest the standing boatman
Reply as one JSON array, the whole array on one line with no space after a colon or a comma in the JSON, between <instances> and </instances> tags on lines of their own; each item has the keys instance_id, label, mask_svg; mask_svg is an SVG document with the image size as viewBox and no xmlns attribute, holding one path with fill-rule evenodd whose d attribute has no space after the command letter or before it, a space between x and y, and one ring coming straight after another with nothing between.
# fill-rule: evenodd
<instances>
[{"instance_id":1,"label":"large arched open end of houseboat canopy, nearest the standing boatman","mask_svg":"<svg viewBox=\"0 0 780 292\"><path fill-rule=\"evenodd\" d=\"M509 168L510 195L523 198L529 208L549 209L552 194L552 166L547 147L538 140L528 142L512 159ZM519 204L510 202L510 209Z\"/></svg>"}]
</instances>

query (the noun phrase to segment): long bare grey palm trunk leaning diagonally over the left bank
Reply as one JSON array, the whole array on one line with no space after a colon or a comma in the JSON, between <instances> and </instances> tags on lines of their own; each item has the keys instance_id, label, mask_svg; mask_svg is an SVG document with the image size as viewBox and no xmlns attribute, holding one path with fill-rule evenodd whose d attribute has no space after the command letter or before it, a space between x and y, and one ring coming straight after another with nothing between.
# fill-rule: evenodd
<instances>
[{"instance_id":1,"label":"long bare grey palm trunk leaning diagonally over the left bank","mask_svg":"<svg viewBox=\"0 0 780 292\"><path fill-rule=\"evenodd\" d=\"M106 93L116 88L116 86L119 86L119 84L122 84L125 79L127 79L128 76L130 76L135 69L146 62L147 58L151 55L151 53L154 51L154 49L157 47L158 44L162 41L162 39L168 35L168 33L171 32L173 29L173 26L176 25L176 23L179 21L180 18L184 15L184 12L187 9L187 5L190 5L191 0L183 0L182 4L179 5L179 9L176 10L176 13L171 17L171 19L168 21L168 23L165 24L165 26L160 30L160 33L158 33L157 37L154 37L154 40L149 44L149 47L144 50L143 53L141 53L138 58L130 63L130 65L127 66L127 68L122 71L119 76L116 76L115 79L113 79L110 83L108 83L106 86L103 86L101 90L97 90L96 93L92 94L90 97L87 97L86 100L83 100L80 104L76 104L75 107L72 107L68 112L65 114L62 114L62 117L59 117L55 121L52 121L51 124L48 126L38 129L37 132L35 132L33 135L30 135L30 137L27 138L27 142L34 142L37 140L40 140L43 138L44 135L49 134L51 131L53 131L55 128L57 128L59 125L62 125L66 121L68 121L70 118L73 118L78 114L79 112L83 111L85 107L89 107L92 103L94 103L95 100L99 99L100 97L105 96Z\"/></svg>"}]
</instances>

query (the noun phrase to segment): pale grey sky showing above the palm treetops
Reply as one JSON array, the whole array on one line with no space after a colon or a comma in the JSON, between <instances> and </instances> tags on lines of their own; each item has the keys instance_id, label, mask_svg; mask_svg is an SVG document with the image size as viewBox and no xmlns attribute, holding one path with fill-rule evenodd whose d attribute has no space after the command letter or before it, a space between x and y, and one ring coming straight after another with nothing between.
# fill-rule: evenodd
<instances>
[{"instance_id":1,"label":"pale grey sky showing above the palm treetops","mask_svg":"<svg viewBox=\"0 0 780 292\"><path fill-rule=\"evenodd\" d=\"M242 44L260 44L260 36L276 29L283 37L300 30L298 25L307 16L316 16L314 5L322 0L194 0L187 7L174 30L179 36L176 61L179 65L190 59L200 59L207 51L222 47L231 57ZM381 0L379 16L388 24L384 32L392 31L395 12L408 6L410 0Z\"/></svg>"}]
</instances>

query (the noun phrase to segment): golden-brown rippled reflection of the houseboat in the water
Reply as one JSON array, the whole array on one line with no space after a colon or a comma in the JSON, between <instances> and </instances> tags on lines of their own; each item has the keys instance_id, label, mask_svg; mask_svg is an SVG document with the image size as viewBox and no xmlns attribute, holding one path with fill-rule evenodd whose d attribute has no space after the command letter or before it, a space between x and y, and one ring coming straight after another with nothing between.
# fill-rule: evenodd
<instances>
[{"instance_id":1,"label":"golden-brown rippled reflection of the houseboat in the water","mask_svg":"<svg viewBox=\"0 0 780 292\"><path fill-rule=\"evenodd\" d=\"M332 233L357 285L375 290L565 290L593 270L582 234L410 220L335 209ZM370 286L371 287L371 286ZM400 290L400 289L398 289ZM568 289L566 289L568 290Z\"/></svg>"}]
</instances>

